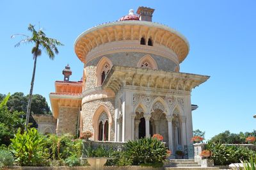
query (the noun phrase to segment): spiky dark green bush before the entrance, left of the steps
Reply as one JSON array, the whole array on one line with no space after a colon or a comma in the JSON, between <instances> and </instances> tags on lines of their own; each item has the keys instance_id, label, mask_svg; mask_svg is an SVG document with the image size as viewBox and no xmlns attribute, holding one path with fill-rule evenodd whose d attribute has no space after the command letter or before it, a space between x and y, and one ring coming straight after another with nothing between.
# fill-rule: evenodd
<instances>
[{"instance_id":1,"label":"spiky dark green bush before the entrance, left of the steps","mask_svg":"<svg viewBox=\"0 0 256 170\"><path fill-rule=\"evenodd\" d=\"M168 157L167 148L156 138L143 138L125 143L125 157L131 158L132 165L163 166Z\"/></svg>"}]
</instances>

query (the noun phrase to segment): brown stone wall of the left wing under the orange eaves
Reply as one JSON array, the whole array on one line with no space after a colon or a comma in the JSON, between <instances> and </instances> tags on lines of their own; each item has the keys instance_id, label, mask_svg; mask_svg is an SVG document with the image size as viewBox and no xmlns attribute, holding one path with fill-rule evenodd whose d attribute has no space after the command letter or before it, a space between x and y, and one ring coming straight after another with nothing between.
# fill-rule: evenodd
<instances>
[{"instance_id":1,"label":"brown stone wall of the left wing under the orange eaves","mask_svg":"<svg viewBox=\"0 0 256 170\"><path fill-rule=\"evenodd\" d=\"M77 118L79 108L75 107L60 107L60 115L58 118L57 135L72 134L77 132Z\"/></svg>"}]
</instances>

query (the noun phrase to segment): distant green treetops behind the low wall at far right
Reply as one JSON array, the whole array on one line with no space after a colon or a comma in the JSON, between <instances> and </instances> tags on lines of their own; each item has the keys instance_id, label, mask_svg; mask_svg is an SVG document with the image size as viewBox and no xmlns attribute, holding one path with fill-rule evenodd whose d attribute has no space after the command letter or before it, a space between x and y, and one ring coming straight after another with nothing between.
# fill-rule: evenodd
<instances>
[{"instance_id":1,"label":"distant green treetops behind the low wall at far right","mask_svg":"<svg viewBox=\"0 0 256 170\"><path fill-rule=\"evenodd\" d=\"M240 132L239 134L230 133L229 130L222 132L218 135L214 135L210 140L212 143L223 143L223 144L244 144L246 143L246 137L256 137L256 130L253 132Z\"/></svg>"}]
</instances>

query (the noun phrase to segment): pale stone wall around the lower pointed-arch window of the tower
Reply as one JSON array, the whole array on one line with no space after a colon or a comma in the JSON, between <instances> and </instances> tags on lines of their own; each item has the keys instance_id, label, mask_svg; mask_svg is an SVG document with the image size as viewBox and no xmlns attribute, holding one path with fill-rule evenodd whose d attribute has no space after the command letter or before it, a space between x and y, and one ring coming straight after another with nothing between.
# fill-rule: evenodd
<instances>
[{"instance_id":1,"label":"pale stone wall around the lower pointed-arch window of the tower","mask_svg":"<svg viewBox=\"0 0 256 170\"><path fill-rule=\"evenodd\" d=\"M95 111L100 107L100 105L104 105L112 116L112 125L110 128L110 141L115 140L115 98L102 98L99 100L92 100L90 102L86 102L82 105L82 117L83 117L83 131L90 130L95 134L93 128L93 116Z\"/></svg>"}]
</instances>

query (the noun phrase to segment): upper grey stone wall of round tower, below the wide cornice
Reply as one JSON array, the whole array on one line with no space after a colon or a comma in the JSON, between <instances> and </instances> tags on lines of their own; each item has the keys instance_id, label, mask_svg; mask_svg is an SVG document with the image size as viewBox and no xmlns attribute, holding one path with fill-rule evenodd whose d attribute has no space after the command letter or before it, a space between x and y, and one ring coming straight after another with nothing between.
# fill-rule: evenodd
<instances>
[{"instance_id":1,"label":"upper grey stone wall of round tower, below the wide cornice","mask_svg":"<svg viewBox=\"0 0 256 170\"><path fill-rule=\"evenodd\" d=\"M137 67L138 62L145 55L147 55L147 53L116 52L114 54L106 54L104 55L104 57L108 58L113 65ZM155 54L150 54L150 56L152 56L152 58L154 58L154 60L156 61L158 70L164 70L167 72L175 71L175 67L177 66L177 64L175 64L171 59L157 56ZM96 69L97 64L102 57L103 56L95 58L92 61L88 61L88 63L86 63L86 65L84 66L86 70L86 89L97 86Z\"/></svg>"}]
</instances>

